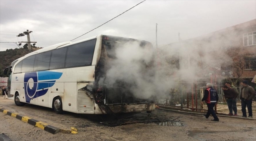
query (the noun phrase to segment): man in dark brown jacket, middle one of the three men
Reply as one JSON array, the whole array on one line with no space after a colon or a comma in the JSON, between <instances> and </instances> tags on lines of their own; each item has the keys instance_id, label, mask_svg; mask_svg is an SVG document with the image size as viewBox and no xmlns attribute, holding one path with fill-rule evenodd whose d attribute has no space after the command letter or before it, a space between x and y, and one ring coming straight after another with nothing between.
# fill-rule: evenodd
<instances>
[{"instance_id":1,"label":"man in dark brown jacket, middle one of the three men","mask_svg":"<svg viewBox=\"0 0 256 141\"><path fill-rule=\"evenodd\" d=\"M228 104L228 116L233 116L233 110L234 116L237 116L236 98L238 96L238 91L231 89L231 87L228 87L227 85L223 85L222 90Z\"/></svg>"}]
</instances>

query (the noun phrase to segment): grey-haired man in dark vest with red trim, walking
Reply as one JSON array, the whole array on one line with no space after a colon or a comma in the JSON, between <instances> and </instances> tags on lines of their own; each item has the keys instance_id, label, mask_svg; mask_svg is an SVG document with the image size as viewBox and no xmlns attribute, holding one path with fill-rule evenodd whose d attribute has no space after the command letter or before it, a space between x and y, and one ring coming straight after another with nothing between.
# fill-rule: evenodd
<instances>
[{"instance_id":1,"label":"grey-haired man in dark vest with red trim, walking","mask_svg":"<svg viewBox=\"0 0 256 141\"><path fill-rule=\"evenodd\" d=\"M218 93L215 89L212 88L212 84L208 83L206 84L206 90L204 90L204 97L202 98L202 104L205 103L207 104L208 111L206 115L204 115L206 118L208 118L211 114L211 116L214 117L214 119L211 119L211 121L219 121L219 118L217 117L213 107L217 105L219 100Z\"/></svg>"}]
</instances>

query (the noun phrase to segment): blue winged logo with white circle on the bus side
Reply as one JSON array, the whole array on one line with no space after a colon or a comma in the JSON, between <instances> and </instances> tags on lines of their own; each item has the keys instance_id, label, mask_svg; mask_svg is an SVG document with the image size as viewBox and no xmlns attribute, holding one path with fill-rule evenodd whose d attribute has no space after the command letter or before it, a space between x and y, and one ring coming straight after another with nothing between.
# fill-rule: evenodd
<instances>
[{"instance_id":1,"label":"blue winged logo with white circle on the bus side","mask_svg":"<svg viewBox=\"0 0 256 141\"><path fill-rule=\"evenodd\" d=\"M40 71L28 72L24 76L24 89L26 102L30 103L32 98L43 96L52 87L56 80L62 75L62 72Z\"/></svg>"}]
</instances>

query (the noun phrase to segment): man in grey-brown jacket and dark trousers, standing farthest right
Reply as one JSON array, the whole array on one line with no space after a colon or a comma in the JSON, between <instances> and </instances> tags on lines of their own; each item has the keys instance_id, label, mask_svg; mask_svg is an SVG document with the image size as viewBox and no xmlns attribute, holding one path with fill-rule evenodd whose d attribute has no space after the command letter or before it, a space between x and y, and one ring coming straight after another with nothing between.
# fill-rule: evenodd
<instances>
[{"instance_id":1,"label":"man in grey-brown jacket and dark trousers, standing farthest right","mask_svg":"<svg viewBox=\"0 0 256 141\"><path fill-rule=\"evenodd\" d=\"M247 117L246 115L246 106L248 109L249 116L248 118L252 118L252 98L255 96L255 91L252 87L248 85L248 81L241 82L243 86L241 89L241 105L242 105L242 112L243 117Z\"/></svg>"}]
</instances>

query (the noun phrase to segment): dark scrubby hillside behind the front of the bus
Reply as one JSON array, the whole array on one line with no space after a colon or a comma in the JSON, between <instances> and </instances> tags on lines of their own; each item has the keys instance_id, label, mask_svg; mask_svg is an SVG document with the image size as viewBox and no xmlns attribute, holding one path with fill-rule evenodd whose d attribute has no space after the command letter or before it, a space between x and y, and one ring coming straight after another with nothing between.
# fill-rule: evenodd
<instances>
[{"instance_id":1,"label":"dark scrubby hillside behind the front of the bus","mask_svg":"<svg viewBox=\"0 0 256 141\"><path fill-rule=\"evenodd\" d=\"M41 49L41 48L32 47L32 51L29 51L28 49L24 49L24 48L7 49L6 51L0 51L0 77L8 77L3 74L3 71L6 67L11 65L11 62L38 49Z\"/></svg>"}]
</instances>

